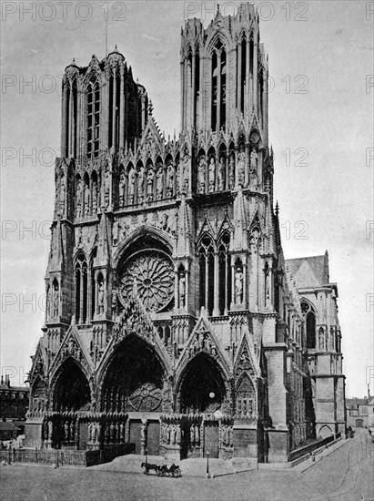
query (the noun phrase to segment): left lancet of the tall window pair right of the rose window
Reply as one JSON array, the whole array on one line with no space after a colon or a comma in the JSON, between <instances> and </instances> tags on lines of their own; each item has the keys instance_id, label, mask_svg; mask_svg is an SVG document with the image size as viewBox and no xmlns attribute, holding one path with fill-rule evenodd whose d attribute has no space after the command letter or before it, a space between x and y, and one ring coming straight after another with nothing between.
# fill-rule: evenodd
<instances>
[{"instance_id":1,"label":"left lancet of the tall window pair right of the rose window","mask_svg":"<svg viewBox=\"0 0 374 501\"><path fill-rule=\"evenodd\" d=\"M214 302L214 259L213 240L205 235L198 248L200 267L200 308L204 307L207 314L213 312Z\"/></svg>"}]
</instances>

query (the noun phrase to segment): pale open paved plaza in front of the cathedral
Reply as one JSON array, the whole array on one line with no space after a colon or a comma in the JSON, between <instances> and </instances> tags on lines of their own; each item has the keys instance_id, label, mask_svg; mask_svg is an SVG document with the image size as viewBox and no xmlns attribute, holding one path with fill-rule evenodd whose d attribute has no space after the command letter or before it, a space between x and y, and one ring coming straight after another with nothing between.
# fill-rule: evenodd
<instances>
[{"instance_id":1,"label":"pale open paved plaza in front of the cathedral","mask_svg":"<svg viewBox=\"0 0 374 501\"><path fill-rule=\"evenodd\" d=\"M367 430L335 450L320 455L315 463L291 469L254 469L230 473L229 466L216 468L215 478L205 478L205 463L185 465L181 478L121 471L124 458L92 468L37 465L3 465L1 501L60 500L246 500L246 501L369 501L374 499L374 443ZM127 460L127 467L131 465ZM134 464L135 465L135 464ZM182 472L184 462L181 464ZM131 469L131 467L128 467ZM135 469L135 466L134 468Z\"/></svg>"}]
</instances>

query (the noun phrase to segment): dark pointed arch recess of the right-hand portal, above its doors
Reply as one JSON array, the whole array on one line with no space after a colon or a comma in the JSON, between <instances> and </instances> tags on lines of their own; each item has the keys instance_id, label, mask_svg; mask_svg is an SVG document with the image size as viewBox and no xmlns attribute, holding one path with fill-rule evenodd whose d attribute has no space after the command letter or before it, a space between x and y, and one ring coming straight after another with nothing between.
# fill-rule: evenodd
<instances>
[{"instance_id":1,"label":"dark pointed arch recess of the right-hand portal, above its doors","mask_svg":"<svg viewBox=\"0 0 374 501\"><path fill-rule=\"evenodd\" d=\"M180 386L180 412L214 413L226 396L224 378L217 362L199 353L188 363Z\"/></svg>"}]
</instances>

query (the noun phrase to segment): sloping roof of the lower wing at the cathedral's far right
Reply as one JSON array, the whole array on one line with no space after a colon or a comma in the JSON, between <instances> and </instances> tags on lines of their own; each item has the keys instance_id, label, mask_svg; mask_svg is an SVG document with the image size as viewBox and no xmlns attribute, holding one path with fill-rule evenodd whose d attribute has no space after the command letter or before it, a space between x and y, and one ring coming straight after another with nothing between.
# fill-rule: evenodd
<instances>
[{"instance_id":1,"label":"sloping roof of the lower wing at the cathedral's far right","mask_svg":"<svg viewBox=\"0 0 374 501\"><path fill-rule=\"evenodd\" d=\"M311 256L308 258L297 258L287 260L298 288L318 287L329 283L329 253L323 256Z\"/></svg>"}]
</instances>

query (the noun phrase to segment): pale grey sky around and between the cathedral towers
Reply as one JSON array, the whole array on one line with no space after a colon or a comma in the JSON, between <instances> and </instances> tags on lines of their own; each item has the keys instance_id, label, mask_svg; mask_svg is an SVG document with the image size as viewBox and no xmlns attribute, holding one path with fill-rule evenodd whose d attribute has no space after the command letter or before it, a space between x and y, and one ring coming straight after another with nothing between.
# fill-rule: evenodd
<instances>
[{"instance_id":1,"label":"pale grey sky around and between the cathedral towers","mask_svg":"<svg viewBox=\"0 0 374 501\"><path fill-rule=\"evenodd\" d=\"M238 2L219 2L233 14ZM348 397L374 394L374 2L257 2L288 259L329 251ZM2 373L22 384L45 318L61 77L117 45L166 135L180 128L180 28L215 2L1 3ZM107 17L107 42L106 42Z\"/></svg>"}]
</instances>

